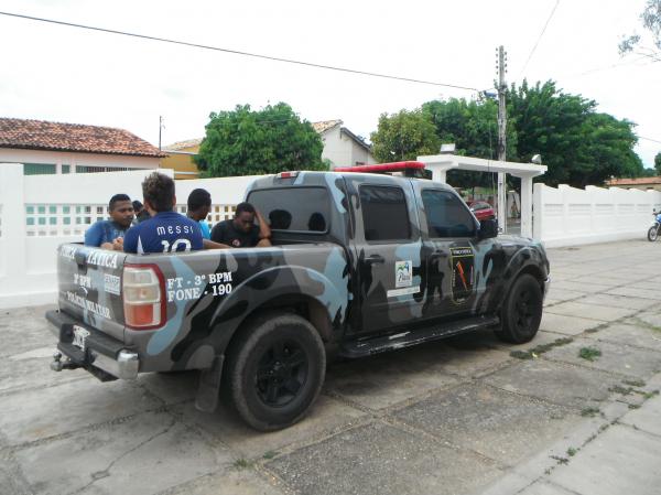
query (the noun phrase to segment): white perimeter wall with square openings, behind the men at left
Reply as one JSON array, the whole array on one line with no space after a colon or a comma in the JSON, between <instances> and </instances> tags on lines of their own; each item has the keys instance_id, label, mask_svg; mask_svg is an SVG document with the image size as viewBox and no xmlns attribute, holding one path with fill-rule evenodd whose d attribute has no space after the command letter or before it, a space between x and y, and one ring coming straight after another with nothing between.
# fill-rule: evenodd
<instances>
[{"instance_id":1,"label":"white perimeter wall with square openings, behind the men at left","mask_svg":"<svg viewBox=\"0 0 661 495\"><path fill-rule=\"evenodd\" d=\"M0 309L56 302L57 246L83 241L91 224L107 218L113 194L142 201L141 182L151 172L23 175L22 164L0 163ZM177 209L185 213L191 191L204 187L213 201L207 219L224 220L254 179L177 181Z\"/></svg>"}]
</instances>

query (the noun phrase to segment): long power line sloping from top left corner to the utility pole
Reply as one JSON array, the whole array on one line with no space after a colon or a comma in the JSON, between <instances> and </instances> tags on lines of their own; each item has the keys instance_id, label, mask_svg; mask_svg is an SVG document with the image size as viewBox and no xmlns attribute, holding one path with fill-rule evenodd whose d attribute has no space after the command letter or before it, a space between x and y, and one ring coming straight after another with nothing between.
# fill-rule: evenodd
<instances>
[{"instance_id":1,"label":"long power line sloping from top left corner to the utility pole","mask_svg":"<svg viewBox=\"0 0 661 495\"><path fill-rule=\"evenodd\" d=\"M7 15L7 17L19 18L19 19L26 19L26 20L30 20L30 21L47 22L47 23L51 23L51 24L66 25L66 26L69 26L69 28L85 29L85 30L89 30L89 31L99 31L99 32L109 33L109 34L119 34L119 35L122 35L122 36L138 37L138 39L141 39L141 40L159 41L159 42L162 42L162 43L171 43L171 44L176 44L176 45L191 46L191 47L194 47L194 49L213 50L215 52L231 53L234 55L250 56L250 57L254 57L254 58L262 58L262 60L273 61L273 62L283 62L283 63L286 63L286 64L296 64L296 65L303 65L303 66L306 66L306 67L323 68L323 69L327 69L327 71L345 72L345 73L349 73L349 74L359 74L359 75L370 76L370 77L381 77L381 78L384 78L384 79L403 80L405 83L426 84L426 85L431 85L431 86L443 86L443 87L449 87L449 88L455 88L455 89L466 89L466 90L469 90L469 92L477 92L478 90L477 88L467 87L467 86L459 86L459 85L455 85L455 84L436 83L436 82L433 82L433 80L424 80L424 79L415 79L415 78L412 78L412 77L394 76L394 75L391 75L391 74L380 74L380 73L372 73L372 72L367 72L367 71L358 71L358 69L355 69L355 68L337 67L337 66L333 66L333 65L316 64L316 63L313 63L313 62L304 62L304 61L296 61L296 60L293 60L293 58L284 58L284 57L271 56L271 55L262 55L262 54L259 54L259 53L242 52L242 51L239 51L239 50L230 50L230 49L223 49L223 47L219 47L219 46L203 45L203 44L199 44L199 43L192 43L192 42L186 42L186 41L172 40L172 39L167 39L167 37L150 36L150 35L147 35L147 34L130 33L130 32L127 32L127 31L118 31L118 30L111 30L111 29L105 29L105 28L97 28L97 26L93 26L93 25L76 24L76 23L73 23L73 22L56 21L56 20L53 20L53 19L35 18L35 17L32 17L32 15L24 15L24 14L12 13L12 12L0 12L0 15Z\"/></svg>"}]
</instances>

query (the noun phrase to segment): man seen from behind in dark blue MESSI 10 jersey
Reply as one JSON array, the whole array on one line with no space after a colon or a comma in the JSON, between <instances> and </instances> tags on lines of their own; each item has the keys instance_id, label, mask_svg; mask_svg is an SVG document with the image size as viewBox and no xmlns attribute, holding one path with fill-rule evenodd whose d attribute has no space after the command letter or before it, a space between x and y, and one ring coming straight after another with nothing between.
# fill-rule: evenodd
<instances>
[{"instance_id":1,"label":"man seen from behind in dark blue MESSI 10 jersey","mask_svg":"<svg viewBox=\"0 0 661 495\"><path fill-rule=\"evenodd\" d=\"M126 252L191 251L203 248L199 224L173 212L176 204L174 181L154 172L142 182L144 207L151 218L127 232L123 239Z\"/></svg>"}]
</instances>

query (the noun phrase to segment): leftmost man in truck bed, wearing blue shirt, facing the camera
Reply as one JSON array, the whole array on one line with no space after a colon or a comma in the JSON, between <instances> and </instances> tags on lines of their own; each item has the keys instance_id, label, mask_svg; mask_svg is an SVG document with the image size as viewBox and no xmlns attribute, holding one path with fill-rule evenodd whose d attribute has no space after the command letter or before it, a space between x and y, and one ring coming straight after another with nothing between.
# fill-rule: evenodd
<instances>
[{"instance_id":1,"label":"leftmost man in truck bed, wearing blue shirt, facing the camera","mask_svg":"<svg viewBox=\"0 0 661 495\"><path fill-rule=\"evenodd\" d=\"M122 250L121 239L133 222L133 205L126 194L116 194L108 204L109 220L99 220L85 233L85 246Z\"/></svg>"}]
</instances>

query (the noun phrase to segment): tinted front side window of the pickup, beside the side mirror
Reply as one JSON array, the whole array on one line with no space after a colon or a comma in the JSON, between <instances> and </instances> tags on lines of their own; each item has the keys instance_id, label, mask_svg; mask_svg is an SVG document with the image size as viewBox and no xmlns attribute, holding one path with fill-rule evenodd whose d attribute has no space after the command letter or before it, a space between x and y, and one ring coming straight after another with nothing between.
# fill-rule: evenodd
<instances>
[{"instance_id":1,"label":"tinted front side window of the pickup, beside the side mirror","mask_svg":"<svg viewBox=\"0 0 661 495\"><path fill-rule=\"evenodd\" d=\"M475 220L462 201L452 193L425 190L422 203L430 237L472 237Z\"/></svg>"}]
</instances>

